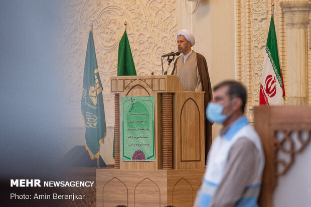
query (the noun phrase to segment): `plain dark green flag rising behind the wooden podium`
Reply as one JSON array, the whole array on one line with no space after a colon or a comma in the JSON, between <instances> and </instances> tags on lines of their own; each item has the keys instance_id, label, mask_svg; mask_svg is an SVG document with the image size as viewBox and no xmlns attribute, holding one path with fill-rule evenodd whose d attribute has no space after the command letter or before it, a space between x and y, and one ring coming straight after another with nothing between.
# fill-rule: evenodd
<instances>
[{"instance_id":1,"label":"plain dark green flag rising behind the wooden podium","mask_svg":"<svg viewBox=\"0 0 311 207\"><path fill-rule=\"evenodd\" d=\"M136 75L132 52L130 50L126 30L119 42L118 76Z\"/></svg>"}]
</instances>

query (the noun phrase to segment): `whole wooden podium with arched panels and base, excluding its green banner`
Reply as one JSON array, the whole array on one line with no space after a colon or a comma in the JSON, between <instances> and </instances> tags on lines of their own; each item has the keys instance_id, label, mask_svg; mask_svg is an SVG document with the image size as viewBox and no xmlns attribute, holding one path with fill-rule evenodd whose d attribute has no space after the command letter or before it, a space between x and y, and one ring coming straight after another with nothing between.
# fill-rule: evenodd
<instances>
[{"instance_id":1,"label":"whole wooden podium with arched panels and base, excluding its green banner","mask_svg":"<svg viewBox=\"0 0 311 207\"><path fill-rule=\"evenodd\" d=\"M113 76L115 168L97 169L97 206L193 206L204 174L204 92L184 91L176 75ZM123 161L120 101L154 96L156 161Z\"/></svg>"}]
</instances>

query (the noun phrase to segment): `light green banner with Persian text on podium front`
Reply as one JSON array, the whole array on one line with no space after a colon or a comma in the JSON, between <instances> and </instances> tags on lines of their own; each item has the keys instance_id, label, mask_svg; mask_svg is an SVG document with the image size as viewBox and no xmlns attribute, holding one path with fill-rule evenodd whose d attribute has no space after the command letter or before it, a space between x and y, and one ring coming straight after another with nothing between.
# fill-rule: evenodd
<instances>
[{"instance_id":1,"label":"light green banner with Persian text on podium front","mask_svg":"<svg viewBox=\"0 0 311 207\"><path fill-rule=\"evenodd\" d=\"M154 96L121 97L123 161L155 161Z\"/></svg>"}]
</instances>

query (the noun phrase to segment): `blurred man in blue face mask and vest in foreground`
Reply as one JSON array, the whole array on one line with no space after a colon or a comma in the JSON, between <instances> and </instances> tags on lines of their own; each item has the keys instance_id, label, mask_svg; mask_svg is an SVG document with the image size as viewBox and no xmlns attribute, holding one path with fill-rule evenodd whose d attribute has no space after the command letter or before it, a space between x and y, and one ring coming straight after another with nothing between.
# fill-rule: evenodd
<instances>
[{"instance_id":1,"label":"blurred man in blue face mask and vest in foreground","mask_svg":"<svg viewBox=\"0 0 311 207\"><path fill-rule=\"evenodd\" d=\"M195 206L258 206L264 153L244 115L246 89L236 81L214 87L206 116L223 128L212 143Z\"/></svg>"}]
</instances>

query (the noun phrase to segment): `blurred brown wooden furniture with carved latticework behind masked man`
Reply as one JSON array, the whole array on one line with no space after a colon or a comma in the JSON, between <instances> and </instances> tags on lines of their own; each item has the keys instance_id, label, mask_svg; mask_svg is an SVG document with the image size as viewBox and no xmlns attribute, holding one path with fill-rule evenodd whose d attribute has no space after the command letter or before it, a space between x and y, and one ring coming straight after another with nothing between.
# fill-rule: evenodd
<instances>
[{"instance_id":1,"label":"blurred brown wooden furniture with carved latticework behind masked man","mask_svg":"<svg viewBox=\"0 0 311 207\"><path fill-rule=\"evenodd\" d=\"M280 176L292 166L297 153L310 142L311 107L259 106L255 108L254 126L265 153L260 206L270 207Z\"/></svg>"}]
</instances>

